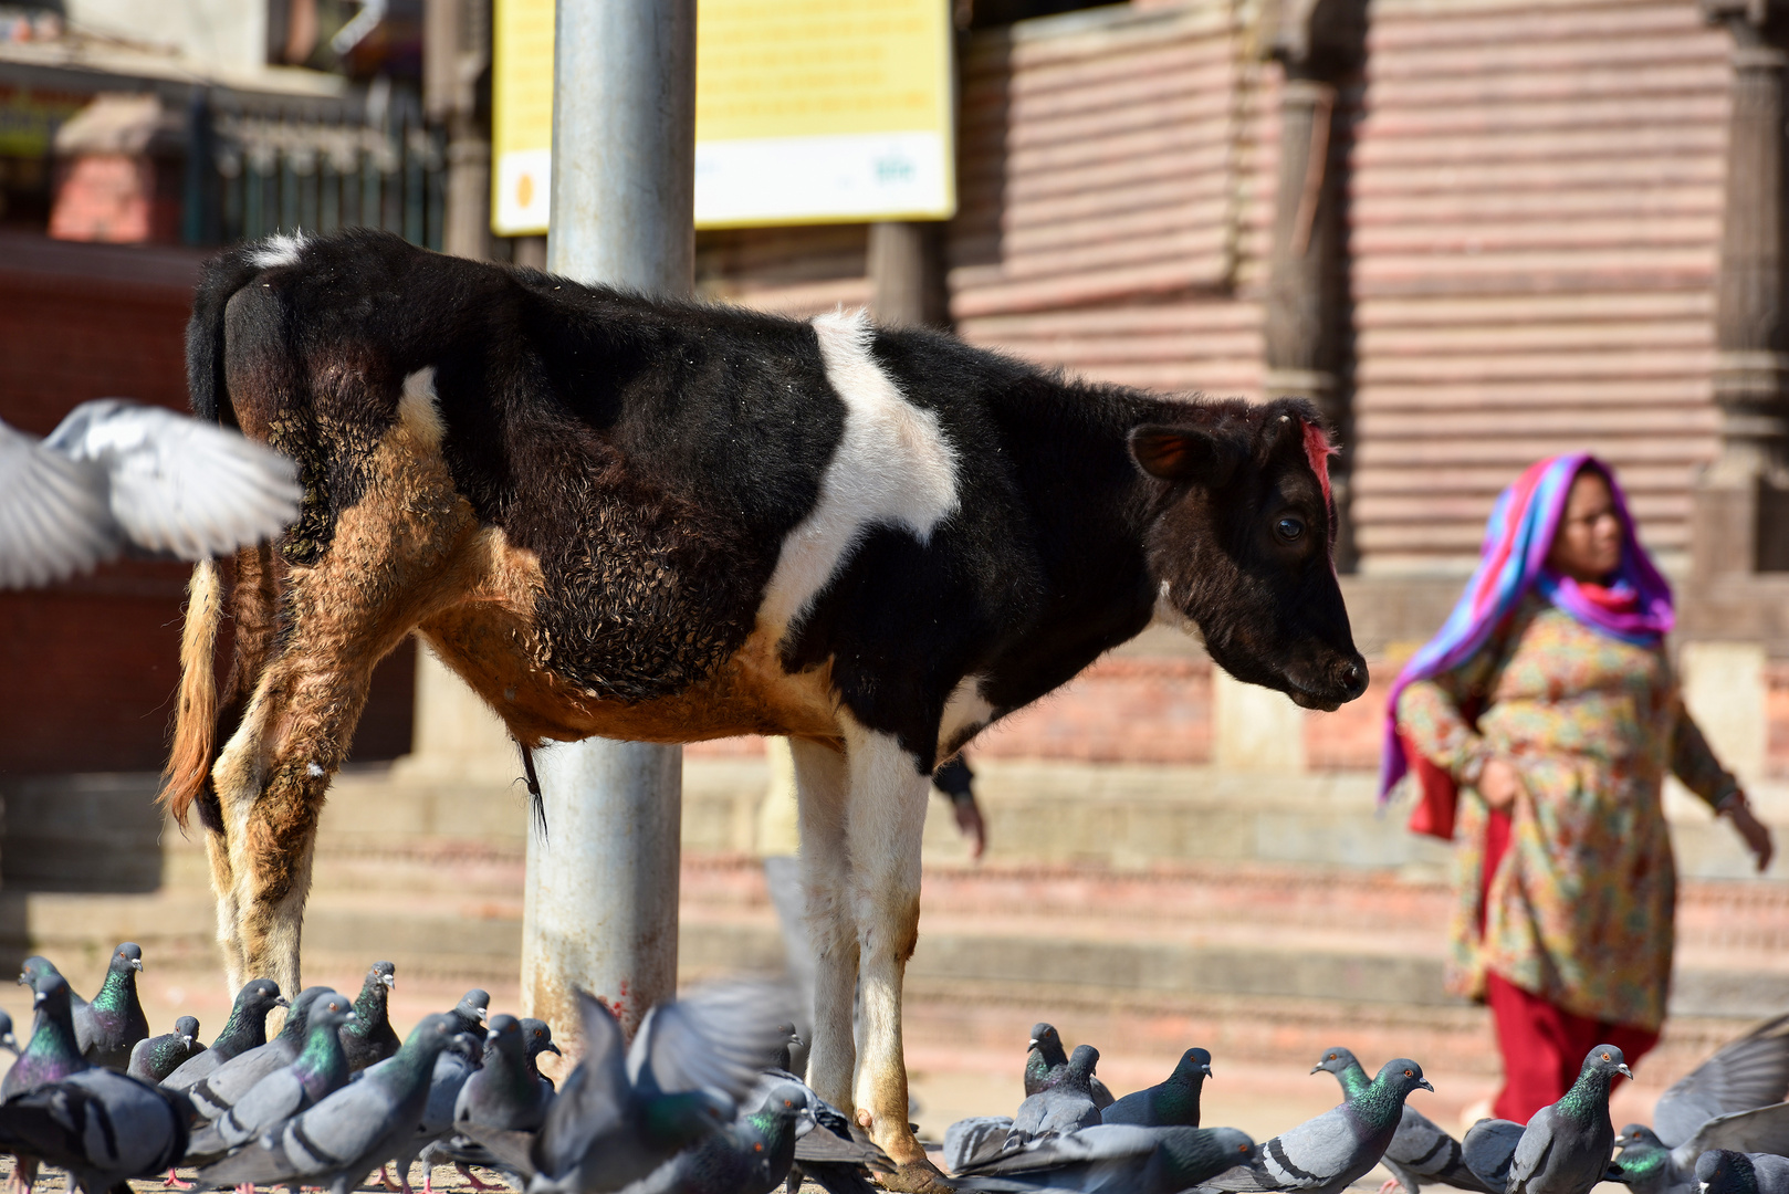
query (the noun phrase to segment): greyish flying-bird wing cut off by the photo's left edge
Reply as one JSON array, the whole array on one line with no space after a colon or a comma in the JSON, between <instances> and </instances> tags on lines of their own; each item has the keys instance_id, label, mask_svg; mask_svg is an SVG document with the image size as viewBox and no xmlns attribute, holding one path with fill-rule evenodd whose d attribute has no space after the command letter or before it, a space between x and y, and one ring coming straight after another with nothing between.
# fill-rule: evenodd
<instances>
[{"instance_id":1,"label":"greyish flying-bird wing cut off by the photo's left edge","mask_svg":"<svg viewBox=\"0 0 1789 1194\"><path fill-rule=\"evenodd\" d=\"M0 589L47 585L118 551L106 476L0 422Z\"/></svg>"}]
</instances>

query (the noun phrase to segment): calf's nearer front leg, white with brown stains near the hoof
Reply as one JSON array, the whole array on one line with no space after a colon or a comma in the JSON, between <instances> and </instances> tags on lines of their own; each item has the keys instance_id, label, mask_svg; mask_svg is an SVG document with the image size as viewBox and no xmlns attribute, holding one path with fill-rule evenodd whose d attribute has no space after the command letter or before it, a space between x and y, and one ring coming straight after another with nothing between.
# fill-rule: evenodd
<instances>
[{"instance_id":1,"label":"calf's nearer front leg, white with brown stains near the hoof","mask_svg":"<svg viewBox=\"0 0 1789 1194\"><path fill-rule=\"evenodd\" d=\"M839 714L844 729L846 838L857 924L864 1049L855 1103L869 1135L902 1167L891 1189L930 1189L937 1171L907 1124L902 983L920 933L920 840L930 777L889 734Z\"/></svg>"}]
</instances>

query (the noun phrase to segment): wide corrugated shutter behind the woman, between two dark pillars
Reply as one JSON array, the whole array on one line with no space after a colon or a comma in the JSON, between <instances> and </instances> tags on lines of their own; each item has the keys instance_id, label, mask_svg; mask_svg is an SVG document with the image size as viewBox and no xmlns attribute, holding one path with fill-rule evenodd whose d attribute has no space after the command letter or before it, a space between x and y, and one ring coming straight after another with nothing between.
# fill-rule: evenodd
<instances>
[{"instance_id":1,"label":"wide corrugated shutter behind the woman, between two dark pillars","mask_svg":"<svg viewBox=\"0 0 1789 1194\"><path fill-rule=\"evenodd\" d=\"M1378 0L1352 175L1369 571L1476 557L1499 487L1590 448L1682 559L1716 451L1726 34L1696 0Z\"/></svg>"}]
</instances>

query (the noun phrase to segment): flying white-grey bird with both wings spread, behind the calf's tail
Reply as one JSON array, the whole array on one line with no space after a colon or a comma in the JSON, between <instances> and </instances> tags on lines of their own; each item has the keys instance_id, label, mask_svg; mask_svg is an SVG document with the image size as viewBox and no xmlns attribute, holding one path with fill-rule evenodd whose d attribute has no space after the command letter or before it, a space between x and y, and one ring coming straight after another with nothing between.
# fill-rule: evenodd
<instances>
[{"instance_id":1,"label":"flying white-grey bird with both wings spread, behind the calf's tail","mask_svg":"<svg viewBox=\"0 0 1789 1194\"><path fill-rule=\"evenodd\" d=\"M297 516L297 465L240 431L118 397L36 439L0 422L0 589L54 584L132 544L202 560Z\"/></svg>"}]
</instances>

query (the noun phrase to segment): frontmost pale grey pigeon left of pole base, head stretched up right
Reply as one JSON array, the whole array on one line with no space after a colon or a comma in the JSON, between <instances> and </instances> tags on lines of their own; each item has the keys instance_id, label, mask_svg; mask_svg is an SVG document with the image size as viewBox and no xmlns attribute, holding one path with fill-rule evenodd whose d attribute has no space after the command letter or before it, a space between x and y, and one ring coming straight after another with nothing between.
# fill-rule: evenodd
<instances>
[{"instance_id":1,"label":"frontmost pale grey pigeon left of pole base, head stretched up right","mask_svg":"<svg viewBox=\"0 0 1789 1194\"><path fill-rule=\"evenodd\" d=\"M206 1185L313 1185L349 1194L397 1156L422 1119L435 1058L460 1035L453 1015L424 1017L397 1056L367 1070L252 1144L199 1171Z\"/></svg>"}]
</instances>

